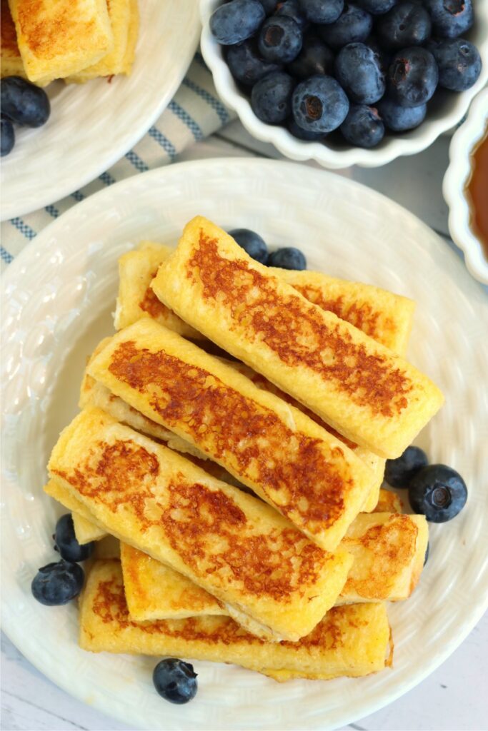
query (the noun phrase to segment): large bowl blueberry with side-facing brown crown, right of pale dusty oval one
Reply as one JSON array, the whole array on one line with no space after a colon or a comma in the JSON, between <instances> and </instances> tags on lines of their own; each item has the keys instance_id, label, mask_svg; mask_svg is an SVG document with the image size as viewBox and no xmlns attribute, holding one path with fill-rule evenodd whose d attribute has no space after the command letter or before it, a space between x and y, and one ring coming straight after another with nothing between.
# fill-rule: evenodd
<instances>
[{"instance_id":1,"label":"large bowl blueberry with side-facing brown crown, right of pale dusty oval one","mask_svg":"<svg viewBox=\"0 0 488 731\"><path fill-rule=\"evenodd\" d=\"M429 101L438 80L432 53L412 46L395 53L388 68L388 94L400 107L418 107Z\"/></svg>"}]
</instances>

